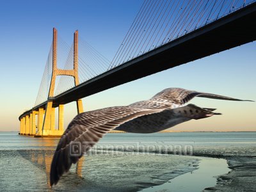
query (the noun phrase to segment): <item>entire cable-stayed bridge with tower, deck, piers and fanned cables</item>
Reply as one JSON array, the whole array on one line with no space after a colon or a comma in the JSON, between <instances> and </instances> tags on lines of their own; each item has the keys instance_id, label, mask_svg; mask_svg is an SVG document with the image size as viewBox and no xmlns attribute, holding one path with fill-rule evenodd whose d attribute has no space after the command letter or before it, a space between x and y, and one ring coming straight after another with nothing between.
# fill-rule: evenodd
<instances>
[{"instance_id":1,"label":"entire cable-stayed bridge with tower, deck, piers and fanned cables","mask_svg":"<svg viewBox=\"0 0 256 192\"><path fill-rule=\"evenodd\" d=\"M255 39L255 0L144 1L112 61L78 31L68 47L54 29L35 106L19 116L20 134L60 136L68 102L81 113L83 97Z\"/></svg>"}]
</instances>

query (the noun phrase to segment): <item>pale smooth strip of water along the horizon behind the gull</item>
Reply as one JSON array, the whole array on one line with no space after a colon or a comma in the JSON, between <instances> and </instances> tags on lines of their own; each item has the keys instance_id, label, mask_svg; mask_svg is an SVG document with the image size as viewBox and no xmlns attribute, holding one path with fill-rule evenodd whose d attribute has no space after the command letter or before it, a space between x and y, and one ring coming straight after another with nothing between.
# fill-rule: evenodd
<instances>
[{"instance_id":1,"label":"pale smooth strip of water along the horizon behind the gull","mask_svg":"<svg viewBox=\"0 0 256 192\"><path fill-rule=\"evenodd\" d=\"M0 150L55 149L59 138L19 136L18 132L0 132ZM173 145L234 146L253 145L256 132L166 132L152 134L106 134L100 143L170 142Z\"/></svg>"}]
</instances>

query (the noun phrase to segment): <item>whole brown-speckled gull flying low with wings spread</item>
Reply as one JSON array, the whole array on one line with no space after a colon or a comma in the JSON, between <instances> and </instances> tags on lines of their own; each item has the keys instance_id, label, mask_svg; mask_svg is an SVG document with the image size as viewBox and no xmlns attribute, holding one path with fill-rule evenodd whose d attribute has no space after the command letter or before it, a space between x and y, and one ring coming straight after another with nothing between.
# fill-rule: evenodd
<instances>
[{"instance_id":1,"label":"whole brown-speckled gull flying low with wings spread","mask_svg":"<svg viewBox=\"0 0 256 192\"><path fill-rule=\"evenodd\" d=\"M77 163L85 152L109 131L152 133L163 131L189 120L207 118L215 109L200 108L194 104L185 105L194 97L211 99L252 101L234 99L212 93L196 92L182 88L166 88L148 100L129 106L118 106L88 111L77 115L63 133L52 158L51 186L57 184L63 173L68 172L72 163ZM71 154L72 143L79 145L79 153ZM85 143L85 144L84 144ZM76 146L75 146L76 147Z\"/></svg>"}]
</instances>

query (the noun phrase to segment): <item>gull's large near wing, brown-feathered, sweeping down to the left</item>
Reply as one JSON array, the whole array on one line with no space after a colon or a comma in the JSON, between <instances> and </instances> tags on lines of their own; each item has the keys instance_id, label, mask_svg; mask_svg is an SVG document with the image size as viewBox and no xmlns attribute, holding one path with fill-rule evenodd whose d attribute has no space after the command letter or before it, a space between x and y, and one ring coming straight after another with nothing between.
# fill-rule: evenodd
<instances>
[{"instance_id":1,"label":"gull's large near wing, brown-feathered, sweeping down to the left","mask_svg":"<svg viewBox=\"0 0 256 192\"><path fill-rule=\"evenodd\" d=\"M158 113L158 109L140 109L130 106L89 111L77 115L61 136L51 164L51 186L57 184L63 173L77 163L97 141L121 124L138 116Z\"/></svg>"}]
</instances>

